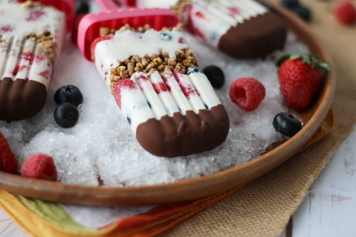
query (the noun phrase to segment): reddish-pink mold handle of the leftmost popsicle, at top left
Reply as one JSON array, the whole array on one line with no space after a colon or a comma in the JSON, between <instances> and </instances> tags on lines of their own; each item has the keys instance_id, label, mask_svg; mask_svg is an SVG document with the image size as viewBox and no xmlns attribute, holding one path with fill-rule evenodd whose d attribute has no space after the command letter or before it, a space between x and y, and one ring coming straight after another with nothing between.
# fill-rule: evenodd
<instances>
[{"instance_id":1,"label":"reddish-pink mold handle of the leftmost popsicle, at top left","mask_svg":"<svg viewBox=\"0 0 356 237\"><path fill-rule=\"evenodd\" d=\"M18 0L19 2L25 2L26 0ZM67 30L72 31L72 27L76 15L75 0L36 0L41 2L45 6L52 6L63 11L67 15Z\"/></svg>"}]
</instances>

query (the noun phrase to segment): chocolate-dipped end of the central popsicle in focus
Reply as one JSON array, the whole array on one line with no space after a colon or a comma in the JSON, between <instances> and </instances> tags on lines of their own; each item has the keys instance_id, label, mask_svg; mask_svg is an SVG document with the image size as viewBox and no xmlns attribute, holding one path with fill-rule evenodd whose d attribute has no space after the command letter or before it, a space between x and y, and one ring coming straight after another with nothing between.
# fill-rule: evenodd
<instances>
[{"instance_id":1,"label":"chocolate-dipped end of the central popsicle in focus","mask_svg":"<svg viewBox=\"0 0 356 237\"><path fill-rule=\"evenodd\" d=\"M174 113L160 120L149 119L138 125L136 137L141 146L156 156L177 157L197 154L222 144L230 129L229 116L219 104L198 114Z\"/></svg>"}]
</instances>

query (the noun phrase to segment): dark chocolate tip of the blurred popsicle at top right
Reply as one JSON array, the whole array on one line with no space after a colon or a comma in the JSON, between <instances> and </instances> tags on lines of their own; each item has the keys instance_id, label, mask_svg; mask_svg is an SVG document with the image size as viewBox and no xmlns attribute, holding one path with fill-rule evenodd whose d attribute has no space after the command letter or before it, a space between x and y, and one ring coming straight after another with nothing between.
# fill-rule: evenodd
<instances>
[{"instance_id":1,"label":"dark chocolate tip of the blurred popsicle at top right","mask_svg":"<svg viewBox=\"0 0 356 237\"><path fill-rule=\"evenodd\" d=\"M235 58L263 58L283 49L287 26L277 15L266 12L231 27L221 38L218 48Z\"/></svg>"}]
</instances>

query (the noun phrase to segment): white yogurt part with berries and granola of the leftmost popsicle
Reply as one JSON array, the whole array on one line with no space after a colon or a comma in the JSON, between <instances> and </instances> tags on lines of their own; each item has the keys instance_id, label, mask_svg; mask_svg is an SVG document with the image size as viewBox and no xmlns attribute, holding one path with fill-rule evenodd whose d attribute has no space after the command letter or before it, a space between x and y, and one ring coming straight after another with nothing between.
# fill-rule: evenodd
<instances>
[{"instance_id":1,"label":"white yogurt part with berries and granola of the leftmost popsicle","mask_svg":"<svg viewBox=\"0 0 356 237\"><path fill-rule=\"evenodd\" d=\"M41 43L47 32L51 41ZM26 6L0 0L0 69L1 77L33 80L48 88L53 63L61 52L66 35L66 16L52 7ZM48 55L54 50L53 55ZM48 52L48 54L46 53Z\"/></svg>"}]
</instances>

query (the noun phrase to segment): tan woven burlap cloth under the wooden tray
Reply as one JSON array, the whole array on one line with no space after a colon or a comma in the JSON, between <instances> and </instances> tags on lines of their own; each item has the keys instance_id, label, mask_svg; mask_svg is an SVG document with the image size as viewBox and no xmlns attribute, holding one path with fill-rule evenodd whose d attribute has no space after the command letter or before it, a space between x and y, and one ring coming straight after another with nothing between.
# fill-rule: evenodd
<instances>
[{"instance_id":1,"label":"tan woven burlap cloth under the wooden tray","mask_svg":"<svg viewBox=\"0 0 356 237\"><path fill-rule=\"evenodd\" d=\"M279 0L272 0L279 2ZM356 123L356 26L332 14L337 1L302 1L313 11L311 27L334 60L337 89L331 134L272 172L198 212L163 236L280 236L310 185ZM356 2L355 2L356 3Z\"/></svg>"}]
</instances>

